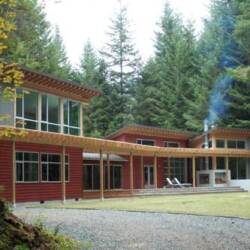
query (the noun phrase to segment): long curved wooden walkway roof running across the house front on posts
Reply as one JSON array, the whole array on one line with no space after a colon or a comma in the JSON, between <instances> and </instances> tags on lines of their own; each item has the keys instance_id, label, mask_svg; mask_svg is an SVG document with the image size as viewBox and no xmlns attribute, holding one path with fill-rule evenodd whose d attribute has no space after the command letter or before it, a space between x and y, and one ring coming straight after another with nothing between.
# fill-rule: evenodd
<instances>
[{"instance_id":1,"label":"long curved wooden walkway roof running across the house front on posts","mask_svg":"<svg viewBox=\"0 0 250 250\"><path fill-rule=\"evenodd\" d=\"M0 127L0 132L5 127ZM164 148L155 146L145 146L127 142L111 141L104 139L96 139L90 137L71 136L64 134L57 134L52 132L42 132L35 130L21 130L14 129L16 132L25 131L25 136L17 136L8 138L0 136L0 139L15 140L20 142L58 145L66 147L81 148L83 152L98 153L102 150L103 153L113 153L120 155L138 156L158 156L158 157L246 157L250 158L250 150L240 149L203 149L203 148ZM2 134L2 133L0 133Z\"/></svg>"}]
</instances>

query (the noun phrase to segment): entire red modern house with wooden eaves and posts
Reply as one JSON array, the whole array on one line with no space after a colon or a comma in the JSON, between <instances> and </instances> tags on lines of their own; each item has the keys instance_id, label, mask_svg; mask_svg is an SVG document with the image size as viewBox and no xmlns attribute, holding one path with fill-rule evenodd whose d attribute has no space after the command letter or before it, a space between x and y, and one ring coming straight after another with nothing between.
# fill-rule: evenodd
<instances>
[{"instance_id":1,"label":"entire red modern house with wooden eaves and posts","mask_svg":"<svg viewBox=\"0 0 250 250\"><path fill-rule=\"evenodd\" d=\"M16 202L104 198L165 188L166 178L193 187L250 191L250 130L206 134L140 125L104 139L84 136L84 106L96 90L23 68L22 93L0 95L0 186ZM6 137L4 130L24 131ZM204 147L205 137L208 147Z\"/></svg>"}]
</instances>

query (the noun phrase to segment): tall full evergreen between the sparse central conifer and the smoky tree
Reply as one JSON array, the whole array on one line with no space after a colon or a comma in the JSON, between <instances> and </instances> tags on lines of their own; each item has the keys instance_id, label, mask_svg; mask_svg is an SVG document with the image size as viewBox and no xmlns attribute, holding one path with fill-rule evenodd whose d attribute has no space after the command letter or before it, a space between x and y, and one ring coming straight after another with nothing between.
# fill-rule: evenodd
<instances>
[{"instance_id":1,"label":"tall full evergreen between the sparse central conifer and the smoky tree","mask_svg":"<svg viewBox=\"0 0 250 250\"><path fill-rule=\"evenodd\" d=\"M183 129L188 108L186 100L192 97L193 92L192 78L199 71L196 40L192 25L185 27L168 3L155 47L162 92L158 123L166 128Z\"/></svg>"}]
</instances>

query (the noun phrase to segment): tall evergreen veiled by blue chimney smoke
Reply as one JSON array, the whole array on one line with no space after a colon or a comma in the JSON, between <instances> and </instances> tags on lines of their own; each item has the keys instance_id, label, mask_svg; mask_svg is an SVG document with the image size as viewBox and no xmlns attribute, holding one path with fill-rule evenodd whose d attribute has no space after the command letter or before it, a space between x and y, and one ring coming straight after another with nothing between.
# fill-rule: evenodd
<instances>
[{"instance_id":1,"label":"tall evergreen veiled by blue chimney smoke","mask_svg":"<svg viewBox=\"0 0 250 250\"><path fill-rule=\"evenodd\" d=\"M235 0L213 0L211 17L206 21L200 40L201 76L209 90L208 117L210 123L229 126L230 98L228 90L234 80L227 73L228 68L237 67L242 58L234 29L238 9Z\"/></svg>"}]
</instances>

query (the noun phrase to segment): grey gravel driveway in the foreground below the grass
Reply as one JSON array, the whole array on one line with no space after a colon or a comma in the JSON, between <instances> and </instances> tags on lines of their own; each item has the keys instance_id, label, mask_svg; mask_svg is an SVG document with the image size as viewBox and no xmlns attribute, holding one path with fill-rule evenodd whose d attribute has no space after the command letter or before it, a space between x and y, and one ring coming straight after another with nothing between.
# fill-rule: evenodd
<instances>
[{"instance_id":1,"label":"grey gravel driveway in the foreground below the grass","mask_svg":"<svg viewBox=\"0 0 250 250\"><path fill-rule=\"evenodd\" d=\"M17 208L26 221L91 241L94 249L250 249L250 220L120 211Z\"/></svg>"}]
</instances>

